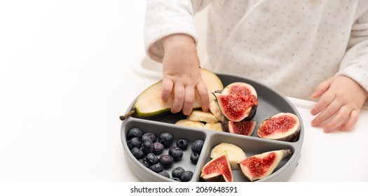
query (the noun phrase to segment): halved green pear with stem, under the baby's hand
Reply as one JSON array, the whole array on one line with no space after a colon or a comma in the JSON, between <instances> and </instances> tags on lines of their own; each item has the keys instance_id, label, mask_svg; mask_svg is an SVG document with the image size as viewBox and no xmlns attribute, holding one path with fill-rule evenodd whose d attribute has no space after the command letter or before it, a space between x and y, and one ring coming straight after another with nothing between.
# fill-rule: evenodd
<instances>
[{"instance_id":1,"label":"halved green pear with stem, under the baby's hand","mask_svg":"<svg viewBox=\"0 0 368 196\"><path fill-rule=\"evenodd\" d=\"M210 96L210 101L214 99L214 96L211 92L216 90L222 90L224 88L222 81L219 77L209 71L207 69L200 69L200 73L202 74L203 81L207 86L208 94ZM125 116L121 116L121 120L127 118L127 116L135 113L137 117L146 117L146 116L154 116L159 113L163 113L165 111L170 111L170 106L173 102L173 94L170 95L168 102L163 102L161 100L161 90L162 90L162 80L154 83L150 87L147 87L141 94L138 95L135 104L132 106L132 111L130 113L125 114ZM200 108L200 98L199 95L195 95L195 102L193 109Z\"/></svg>"}]
</instances>

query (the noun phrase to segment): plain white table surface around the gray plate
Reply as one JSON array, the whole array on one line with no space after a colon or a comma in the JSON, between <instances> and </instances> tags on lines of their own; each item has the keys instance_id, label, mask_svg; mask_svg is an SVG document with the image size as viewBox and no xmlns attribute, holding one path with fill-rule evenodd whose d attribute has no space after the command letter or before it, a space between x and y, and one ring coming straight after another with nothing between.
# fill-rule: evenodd
<instances>
[{"instance_id":1,"label":"plain white table surface around the gray plate","mask_svg":"<svg viewBox=\"0 0 368 196\"><path fill-rule=\"evenodd\" d=\"M0 182L139 181L119 116L156 81L137 74L144 1L0 4ZM350 132L310 126L288 181L368 181L368 111Z\"/></svg>"}]
</instances>

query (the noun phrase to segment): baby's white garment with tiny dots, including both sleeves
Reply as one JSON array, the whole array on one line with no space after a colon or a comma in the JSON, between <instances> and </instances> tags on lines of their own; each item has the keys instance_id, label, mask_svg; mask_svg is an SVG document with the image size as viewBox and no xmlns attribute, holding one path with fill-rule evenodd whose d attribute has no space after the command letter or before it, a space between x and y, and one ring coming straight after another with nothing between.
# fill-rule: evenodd
<instances>
[{"instance_id":1,"label":"baby's white garment with tiny dots, including both sleeves","mask_svg":"<svg viewBox=\"0 0 368 196\"><path fill-rule=\"evenodd\" d=\"M160 62L160 39L169 34L197 41L193 15L204 6L205 68L253 78L301 99L310 99L335 74L368 90L368 1L148 0L147 54Z\"/></svg>"}]
</instances>

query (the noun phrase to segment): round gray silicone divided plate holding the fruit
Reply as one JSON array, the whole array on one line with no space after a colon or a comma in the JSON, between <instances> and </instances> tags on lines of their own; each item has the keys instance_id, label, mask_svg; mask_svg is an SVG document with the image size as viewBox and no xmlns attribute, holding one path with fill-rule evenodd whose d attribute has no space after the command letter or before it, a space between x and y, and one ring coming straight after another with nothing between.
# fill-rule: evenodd
<instances>
[{"instance_id":1,"label":"round gray silicone divided plate holding the fruit","mask_svg":"<svg viewBox=\"0 0 368 196\"><path fill-rule=\"evenodd\" d=\"M138 127L142 130L142 132L153 132L156 135L161 134L161 132L170 132L175 139L172 144L173 146L176 144L176 139L188 139L189 148L184 151L182 160L175 162L174 165L172 165L172 167L169 169L164 169L170 174L170 176L172 169L180 166L185 170L190 170L193 172L193 178L191 181L203 181L203 179L200 179L200 172L203 165L210 160L210 151L212 148L214 148L214 146L223 142L234 144L242 148L247 157L267 151L289 148L293 151L293 154L284 158L282 162L280 162L280 165L278 165L278 167L275 169L273 174L259 181L286 181L287 178L292 174L294 169L297 167L301 155L301 146L304 140L304 125L301 120L301 116L294 105L279 92L267 87L264 84L250 80L249 78L230 74L217 74L217 76L219 76L219 78L222 80L224 86L234 82L245 82L253 85L255 90L257 90L259 105L257 107L257 113L254 116L254 120L257 121L257 126L252 136L243 136L228 132L217 132L212 130L177 126L174 125L174 123L177 122L177 120L184 119L185 116L182 116L181 114L172 114L170 112L151 118L136 118L134 116L130 116L122 123L121 142L123 144L125 158L128 160L130 169L132 172L135 172L139 179L142 181L173 181L172 179L168 179L164 176L156 174L150 169L144 167L137 161L132 153L130 153L127 146L126 134L132 127ZM132 102L127 112L131 111L134 102L135 101ZM299 120L301 121L301 130L299 132L299 136L292 142L259 138L257 136L257 127L259 124L266 118L269 118L275 113L279 112L290 112L299 117ZM202 139L205 141L205 143L202 152L200 153L200 158L197 164L194 165L190 161L191 144L193 144L193 141L196 141L197 139ZM163 154L168 154L168 148L165 148ZM239 170L233 170L232 172L234 181L248 181Z\"/></svg>"}]
</instances>

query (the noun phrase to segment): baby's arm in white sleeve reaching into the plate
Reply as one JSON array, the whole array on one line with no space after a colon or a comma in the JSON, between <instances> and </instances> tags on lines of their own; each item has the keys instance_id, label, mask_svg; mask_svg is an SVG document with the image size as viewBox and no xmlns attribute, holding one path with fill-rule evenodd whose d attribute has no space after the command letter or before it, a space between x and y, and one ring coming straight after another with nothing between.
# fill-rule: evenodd
<instances>
[{"instance_id":1,"label":"baby's arm in white sleeve reaching into the plate","mask_svg":"<svg viewBox=\"0 0 368 196\"><path fill-rule=\"evenodd\" d=\"M194 15L210 0L146 1L144 45L146 54L163 63L163 101L175 95L173 113L188 115L198 93L203 111L209 109L207 87L200 75Z\"/></svg>"}]
</instances>

